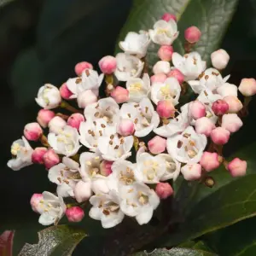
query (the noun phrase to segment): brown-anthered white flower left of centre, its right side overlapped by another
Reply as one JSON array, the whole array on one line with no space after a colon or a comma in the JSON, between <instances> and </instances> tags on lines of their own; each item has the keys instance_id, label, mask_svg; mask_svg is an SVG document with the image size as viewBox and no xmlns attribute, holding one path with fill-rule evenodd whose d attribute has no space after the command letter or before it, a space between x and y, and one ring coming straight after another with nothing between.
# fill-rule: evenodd
<instances>
[{"instance_id":1,"label":"brown-anthered white flower left of centre, its right side overlapped by another","mask_svg":"<svg viewBox=\"0 0 256 256\"><path fill-rule=\"evenodd\" d=\"M86 148L95 152L98 147L98 139L103 136L115 134L115 132L115 126L109 126L106 119L96 119L94 121L87 119L80 124L79 140Z\"/></svg>"}]
</instances>

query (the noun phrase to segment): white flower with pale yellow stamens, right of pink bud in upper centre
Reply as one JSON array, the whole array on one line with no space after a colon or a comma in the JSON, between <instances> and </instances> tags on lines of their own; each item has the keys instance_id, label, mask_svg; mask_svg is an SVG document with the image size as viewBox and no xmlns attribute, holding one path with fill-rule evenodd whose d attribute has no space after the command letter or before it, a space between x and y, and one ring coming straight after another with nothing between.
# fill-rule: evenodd
<instances>
[{"instance_id":1,"label":"white flower with pale yellow stamens, right of pink bud in upper centre","mask_svg":"<svg viewBox=\"0 0 256 256\"><path fill-rule=\"evenodd\" d=\"M129 79L126 82L129 90L129 102L140 102L150 93L150 79L148 73L143 74L143 79Z\"/></svg>"}]
</instances>

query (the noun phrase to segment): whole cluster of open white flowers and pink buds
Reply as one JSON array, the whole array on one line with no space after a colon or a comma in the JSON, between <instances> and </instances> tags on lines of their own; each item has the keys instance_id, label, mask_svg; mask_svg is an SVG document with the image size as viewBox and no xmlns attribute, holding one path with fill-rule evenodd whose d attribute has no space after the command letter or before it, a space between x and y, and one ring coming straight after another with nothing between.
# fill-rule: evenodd
<instances>
[{"instance_id":1,"label":"whole cluster of open white flowers and pink buds","mask_svg":"<svg viewBox=\"0 0 256 256\"><path fill-rule=\"evenodd\" d=\"M163 15L148 32L129 32L119 42L123 53L99 61L101 74L80 62L77 77L60 89L44 84L38 90L37 122L27 124L24 136L12 144L8 166L17 171L44 165L56 184L55 195L32 195L40 224L57 224L65 213L78 222L87 201L90 218L101 220L103 228L119 224L125 215L147 224L160 200L173 194L172 181L179 175L203 179L221 164L233 177L245 175L247 162L227 162L222 148L242 126L247 106L238 90L253 96L256 81L242 79L238 88L227 83L230 76L221 72L230 56L224 49L212 53L213 67L207 68L191 51L201 38L195 26L184 33L186 54L178 54L172 47L178 34L176 17ZM160 61L149 77L146 55L153 43L160 44ZM105 97L99 96L102 84ZM181 106L189 86L195 101ZM32 148L28 141L41 144ZM74 203L65 204L67 197Z\"/></svg>"}]
</instances>

